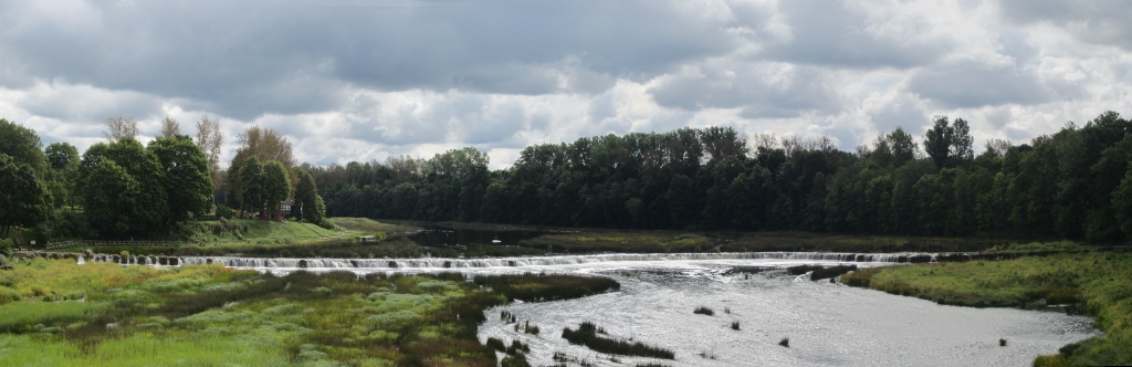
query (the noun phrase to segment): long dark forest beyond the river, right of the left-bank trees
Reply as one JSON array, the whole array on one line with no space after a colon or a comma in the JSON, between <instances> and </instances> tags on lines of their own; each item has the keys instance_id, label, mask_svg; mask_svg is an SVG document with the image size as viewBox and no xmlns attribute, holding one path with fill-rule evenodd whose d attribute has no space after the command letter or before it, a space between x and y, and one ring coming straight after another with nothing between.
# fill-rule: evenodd
<instances>
[{"instance_id":1,"label":"long dark forest beyond the river, right of the left-bank trees","mask_svg":"<svg viewBox=\"0 0 1132 367\"><path fill-rule=\"evenodd\" d=\"M938 117L855 152L829 139L748 139L731 128L581 138L486 153L302 168L327 215L561 227L1132 238L1132 122L1106 112L1029 144Z\"/></svg>"}]
</instances>

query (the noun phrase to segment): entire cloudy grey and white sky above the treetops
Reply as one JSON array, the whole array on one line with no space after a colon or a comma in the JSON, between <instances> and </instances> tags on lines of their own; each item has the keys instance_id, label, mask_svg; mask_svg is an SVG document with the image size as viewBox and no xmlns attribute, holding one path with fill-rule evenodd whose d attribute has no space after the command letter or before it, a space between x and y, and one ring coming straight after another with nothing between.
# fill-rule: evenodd
<instances>
[{"instance_id":1,"label":"entire cloudy grey and white sky above the treetops","mask_svg":"<svg viewBox=\"0 0 1132 367\"><path fill-rule=\"evenodd\" d=\"M492 169L526 146L724 126L842 150L933 117L976 151L1132 114L1120 0L0 0L0 118L85 151L104 121L251 126L299 162Z\"/></svg>"}]
</instances>

